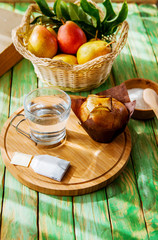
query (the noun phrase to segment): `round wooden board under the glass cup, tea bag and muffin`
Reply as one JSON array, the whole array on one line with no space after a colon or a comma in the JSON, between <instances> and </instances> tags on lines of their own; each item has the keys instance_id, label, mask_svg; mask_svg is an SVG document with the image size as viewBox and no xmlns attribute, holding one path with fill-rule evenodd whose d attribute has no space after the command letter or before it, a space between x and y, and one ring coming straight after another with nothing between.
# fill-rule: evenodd
<instances>
[{"instance_id":1,"label":"round wooden board under the glass cup, tea bag and muffin","mask_svg":"<svg viewBox=\"0 0 158 240\"><path fill-rule=\"evenodd\" d=\"M1 152L4 164L11 174L27 187L46 194L73 196L96 191L113 181L124 169L131 151L131 137L128 128L113 142L105 144L92 140L80 126L78 118L71 111L67 123L67 138L56 148L38 147L32 140L18 133L10 125L11 119L23 113L18 109L5 123L1 133ZM19 117L14 120L14 124ZM29 131L27 122L20 128ZM31 167L10 163L15 152L40 155L48 154L70 161L70 168L61 182L35 173Z\"/></svg>"}]
</instances>

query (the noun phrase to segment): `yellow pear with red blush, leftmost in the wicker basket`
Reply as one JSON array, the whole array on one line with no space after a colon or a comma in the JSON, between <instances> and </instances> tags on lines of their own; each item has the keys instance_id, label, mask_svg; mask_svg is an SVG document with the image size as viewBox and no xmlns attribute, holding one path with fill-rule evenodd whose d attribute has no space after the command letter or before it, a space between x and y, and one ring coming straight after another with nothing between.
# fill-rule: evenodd
<instances>
[{"instance_id":1,"label":"yellow pear with red blush, leftmost in the wicker basket","mask_svg":"<svg viewBox=\"0 0 158 240\"><path fill-rule=\"evenodd\" d=\"M47 28L37 25L29 37L28 50L37 57L52 58L58 50L57 39Z\"/></svg>"}]
</instances>

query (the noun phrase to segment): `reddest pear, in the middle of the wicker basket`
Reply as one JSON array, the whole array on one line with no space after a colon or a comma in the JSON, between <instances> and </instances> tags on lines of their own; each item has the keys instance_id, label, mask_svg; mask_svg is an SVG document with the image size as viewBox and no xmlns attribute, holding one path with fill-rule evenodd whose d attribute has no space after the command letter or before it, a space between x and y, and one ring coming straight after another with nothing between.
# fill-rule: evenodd
<instances>
[{"instance_id":1,"label":"reddest pear, in the middle of the wicker basket","mask_svg":"<svg viewBox=\"0 0 158 240\"><path fill-rule=\"evenodd\" d=\"M68 54L76 54L78 48L87 42L83 30L72 21L67 21L59 28L57 39L61 52Z\"/></svg>"}]
</instances>

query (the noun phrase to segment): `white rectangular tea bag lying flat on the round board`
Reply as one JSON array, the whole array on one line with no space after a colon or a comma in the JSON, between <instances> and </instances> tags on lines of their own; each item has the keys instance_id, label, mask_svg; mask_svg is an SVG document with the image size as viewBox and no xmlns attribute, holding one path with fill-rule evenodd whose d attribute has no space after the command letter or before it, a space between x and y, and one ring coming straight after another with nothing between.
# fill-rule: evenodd
<instances>
[{"instance_id":1,"label":"white rectangular tea bag lying flat on the round board","mask_svg":"<svg viewBox=\"0 0 158 240\"><path fill-rule=\"evenodd\" d=\"M40 175L61 181L70 162L50 155L38 155L32 159L30 166Z\"/></svg>"}]
</instances>

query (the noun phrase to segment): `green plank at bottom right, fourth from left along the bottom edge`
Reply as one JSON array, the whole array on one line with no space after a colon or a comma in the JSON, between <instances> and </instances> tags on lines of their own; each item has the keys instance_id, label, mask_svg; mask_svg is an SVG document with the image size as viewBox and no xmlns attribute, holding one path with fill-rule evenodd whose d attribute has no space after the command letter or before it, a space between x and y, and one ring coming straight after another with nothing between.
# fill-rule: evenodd
<instances>
[{"instance_id":1,"label":"green plank at bottom right, fourth from left along the bottom edge","mask_svg":"<svg viewBox=\"0 0 158 240\"><path fill-rule=\"evenodd\" d=\"M131 160L107 187L113 239L148 239Z\"/></svg>"}]
</instances>

